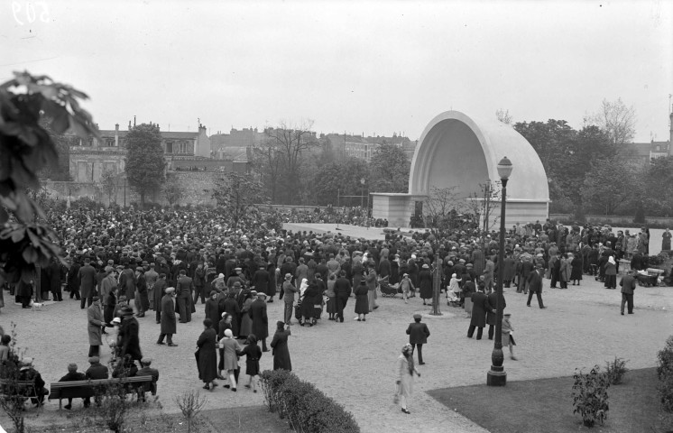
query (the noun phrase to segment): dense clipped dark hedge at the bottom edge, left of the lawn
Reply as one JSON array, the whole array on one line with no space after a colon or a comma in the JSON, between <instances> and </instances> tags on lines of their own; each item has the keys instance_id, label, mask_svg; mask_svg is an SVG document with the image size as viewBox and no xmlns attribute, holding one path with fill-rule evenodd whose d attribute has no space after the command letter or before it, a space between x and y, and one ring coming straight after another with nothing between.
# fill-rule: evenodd
<instances>
[{"instance_id":1,"label":"dense clipped dark hedge at the bottom edge, left of the lawn","mask_svg":"<svg viewBox=\"0 0 673 433\"><path fill-rule=\"evenodd\" d=\"M290 428L303 433L359 433L353 415L312 383L287 370L260 374L264 400L272 412L288 419Z\"/></svg>"}]
</instances>

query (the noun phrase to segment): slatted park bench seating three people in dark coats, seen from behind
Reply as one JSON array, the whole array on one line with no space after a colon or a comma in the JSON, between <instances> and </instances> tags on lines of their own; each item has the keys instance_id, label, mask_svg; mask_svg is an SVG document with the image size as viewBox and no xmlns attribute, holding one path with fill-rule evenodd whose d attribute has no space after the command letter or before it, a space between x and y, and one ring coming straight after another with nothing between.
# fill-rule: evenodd
<instances>
[{"instance_id":1,"label":"slatted park bench seating three people in dark coats, seen from behind","mask_svg":"<svg viewBox=\"0 0 673 433\"><path fill-rule=\"evenodd\" d=\"M113 379L93 379L88 381L51 382L49 400L59 399L59 409L63 399L83 399L100 395L108 385L124 384L127 394L137 392L144 396L145 392L152 391L152 376L133 376ZM154 385L156 386L156 385Z\"/></svg>"}]
</instances>

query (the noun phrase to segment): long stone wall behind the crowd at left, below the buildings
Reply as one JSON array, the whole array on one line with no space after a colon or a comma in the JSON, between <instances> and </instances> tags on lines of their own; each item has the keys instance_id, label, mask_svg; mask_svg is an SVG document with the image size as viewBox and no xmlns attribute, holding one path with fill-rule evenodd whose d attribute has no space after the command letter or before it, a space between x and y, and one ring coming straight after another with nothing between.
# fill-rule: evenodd
<instances>
[{"instance_id":1,"label":"long stone wall behind the crowd at left, below the buildings","mask_svg":"<svg viewBox=\"0 0 673 433\"><path fill-rule=\"evenodd\" d=\"M182 198L178 204L184 205L214 205L212 198L215 182L222 175L217 171L169 171L168 175L178 180L183 187ZM46 180L42 182L52 198L76 200L78 198L91 198L103 206L108 204L108 196L100 183L91 182L63 182ZM109 200L120 206L130 206L140 203L140 195L132 189L124 176L116 180L116 187L112 198ZM152 191L147 194L145 201L168 205L161 191Z\"/></svg>"}]
</instances>

